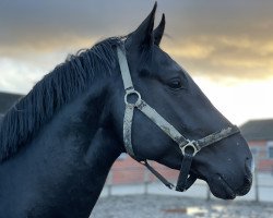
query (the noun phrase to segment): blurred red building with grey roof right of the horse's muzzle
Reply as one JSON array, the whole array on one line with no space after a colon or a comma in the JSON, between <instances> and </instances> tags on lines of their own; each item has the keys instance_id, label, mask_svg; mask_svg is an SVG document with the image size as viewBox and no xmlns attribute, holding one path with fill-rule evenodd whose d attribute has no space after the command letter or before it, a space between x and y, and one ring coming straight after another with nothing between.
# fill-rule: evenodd
<instances>
[{"instance_id":1,"label":"blurred red building with grey roof right of the horse's muzzle","mask_svg":"<svg viewBox=\"0 0 273 218\"><path fill-rule=\"evenodd\" d=\"M273 172L273 119L251 120L240 126L260 171Z\"/></svg>"}]
</instances>

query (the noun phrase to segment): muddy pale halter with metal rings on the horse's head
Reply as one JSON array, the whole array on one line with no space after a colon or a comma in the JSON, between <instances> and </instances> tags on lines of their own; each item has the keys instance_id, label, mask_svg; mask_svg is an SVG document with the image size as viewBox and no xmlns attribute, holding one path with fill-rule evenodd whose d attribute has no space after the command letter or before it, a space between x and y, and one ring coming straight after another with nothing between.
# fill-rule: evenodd
<instances>
[{"instance_id":1,"label":"muddy pale halter with metal rings on the horse's head","mask_svg":"<svg viewBox=\"0 0 273 218\"><path fill-rule=\"evenodd\" d=\"M173 141L175 141L182 155L182 164L180 168L180 173L178 177L176 191L183 192L188 190L197 180L197 177L190 174L190 168L193 157L203 147L224 140L230 135L239 133L239 129L235 125L228 126L221 130L219 132L212 133L201 140L191 141L181 135L168 121L166 121L159 113L156 112L151 106L149 106L142 98L139 92L133 87L131 74L129 71L126 51L123 46L117 48L118 60L120 72L124 85L124 119L123 119L123 142L127 153L136 161L144 165L157 179L159 179L166 186L174 189L175 185L168 182L163 175L161 175L152 166L149 165L146 159L138 158L133 152L132 146L132 120L134 109L140 110L144 113L152 122L154 122L163 132L165 132ZM133 97L133 102L129 101L129 97Z\"/></svg>"}]
</instances>

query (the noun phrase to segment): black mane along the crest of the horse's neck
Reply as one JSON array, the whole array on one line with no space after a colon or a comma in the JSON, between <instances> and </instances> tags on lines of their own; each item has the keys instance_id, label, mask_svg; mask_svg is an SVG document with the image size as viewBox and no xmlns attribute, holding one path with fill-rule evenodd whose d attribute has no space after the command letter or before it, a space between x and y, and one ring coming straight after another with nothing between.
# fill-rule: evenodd
<instances>
[{"instance_id":1,"label":"black mane along the crest of the horse's neck","mask_svg":"<svg viewBox=\"0 0 273 218\"><path fill-rule=\"evenodd\" d=\"M114 46L121 40L108 38L70 56L20 99L0 122L0 161L14 155L56 111L85 90L95 73L110 73L116 65Z\"/></svg>"}]
</instances>

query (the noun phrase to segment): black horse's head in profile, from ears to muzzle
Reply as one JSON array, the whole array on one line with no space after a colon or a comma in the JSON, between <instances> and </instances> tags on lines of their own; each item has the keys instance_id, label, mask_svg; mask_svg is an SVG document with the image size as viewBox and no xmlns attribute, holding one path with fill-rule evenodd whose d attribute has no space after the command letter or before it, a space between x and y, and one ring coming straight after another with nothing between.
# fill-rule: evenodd
<instances>
[{"instance_id":1,"label":"black horse's head in profile, from ears to muzzle","mask_svg":"<svg viewBox=\"0 0 273 218\"><path fill-rule=\"evenodd\" d=\"M153 29L155 11L156 5L142 24L126 37L121 49L133 83L133 95L126 96L126 101L143 99L151 106L150 109L155 109L185 138L194 142L207 140L207 135L213 137L211 134L233 126L210 102L189 73L162 50L159 44L164 35L165 16L158 27ZM124 88L120 76L112 80L109 108L120 141L123 141L123 132L127 131L122 130L123 117L128 117L127 112L124 114ZM185 155L178 143L165 134L167 131L164 133L153 118L143 114L141 107L139 105L139 110L129 111L129 125L132 125L129 140L134 158L155 160L179 170ZM189 173L206 181L216 197L228 199L248 193L252 182L251 167L252 156L248 144L237 131L197 153Z\"/></svg>"}]
</instances>

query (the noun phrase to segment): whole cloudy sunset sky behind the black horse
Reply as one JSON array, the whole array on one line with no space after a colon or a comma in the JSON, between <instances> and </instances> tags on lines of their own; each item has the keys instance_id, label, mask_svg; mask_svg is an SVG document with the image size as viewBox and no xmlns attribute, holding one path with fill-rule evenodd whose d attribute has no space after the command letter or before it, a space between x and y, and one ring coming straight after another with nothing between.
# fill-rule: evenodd
<instances>
[{"instance_id":1,"label":"whole cloudy sunset sky behind the black horse","mask_svg":"<svg viewBox=\"0 0 273 218\"><path fill-rule=\"evenodd\" d=\"M134 31L152 0L1 0L0 92L26 94L69 53ZM273 1L158 0L162 48L235 124L273 118Z\"/></svg>"}]
</instances>

